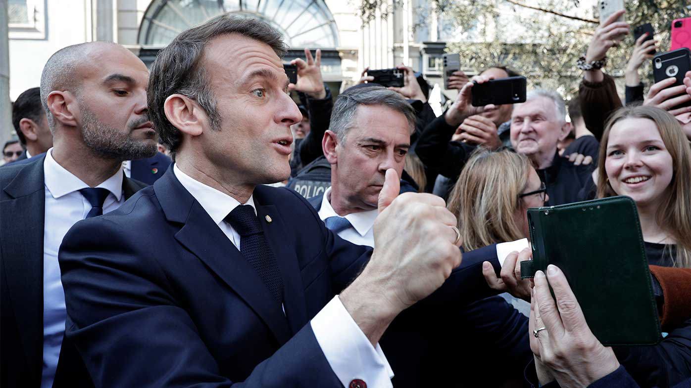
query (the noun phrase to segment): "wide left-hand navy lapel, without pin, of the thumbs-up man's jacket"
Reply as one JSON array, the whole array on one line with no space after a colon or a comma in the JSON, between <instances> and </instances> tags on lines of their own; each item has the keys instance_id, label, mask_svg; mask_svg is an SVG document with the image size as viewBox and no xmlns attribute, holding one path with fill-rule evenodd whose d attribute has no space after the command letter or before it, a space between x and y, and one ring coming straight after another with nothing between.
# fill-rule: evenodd
<instances>
[{"instance_id":1,"label":"wide left-hand navy lapel, without pin, of the thumbs-up man's jacket","mask_svg":"<svg viewBox=\"0 0 691 388\"><path fill-rule=\"evenodd\" d=\"M176 233L176 240L245 300L274 333L278 343L283 345L290 340L292 333L281 306L252 265L180 184L172 166L153 188L167 220L184 224Z\"/></svg>"}]
</instances>

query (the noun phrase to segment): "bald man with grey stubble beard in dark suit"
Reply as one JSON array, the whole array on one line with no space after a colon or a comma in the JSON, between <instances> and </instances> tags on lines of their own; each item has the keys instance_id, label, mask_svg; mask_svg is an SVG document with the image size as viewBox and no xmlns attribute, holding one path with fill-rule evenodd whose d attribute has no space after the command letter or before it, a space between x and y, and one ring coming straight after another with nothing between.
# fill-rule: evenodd
<instances>
[{"instance_id":1,"label":"bald man with grey stubble beard in dark suit","mask_svg":"<svg viewBox=\"0 0 691 388\"><path fill-rule=\"evenodd\" d=\"M146 186L124 176L122 161L155 153L147 79L142 61L114 43L69 46L48 59L41 101L53 148L0 169L2 387L51 387L54 376L77 386L70 378L81 360L63 357L76 350L63 343L58 249L75 222Z\"/></svg>"}]
</instances>

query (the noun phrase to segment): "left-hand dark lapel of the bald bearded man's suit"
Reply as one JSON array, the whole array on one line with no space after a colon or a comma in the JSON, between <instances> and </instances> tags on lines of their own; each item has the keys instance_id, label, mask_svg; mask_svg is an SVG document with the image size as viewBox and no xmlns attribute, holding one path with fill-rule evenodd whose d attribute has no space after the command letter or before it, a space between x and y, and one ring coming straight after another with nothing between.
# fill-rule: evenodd
<instances>
[{"instance_id":1,"label":"left-hand dark lapel of the bald bearded man's suit","mask_svg":"<svg viewBox=\"0 0 691 388\"><path fill-rule=\"evenodd\" d=\"M3 278L12 295L19 336L35 376L43 360L44 157L26 164L3 188L0 206Z\"/></svg>"}]
</instances>

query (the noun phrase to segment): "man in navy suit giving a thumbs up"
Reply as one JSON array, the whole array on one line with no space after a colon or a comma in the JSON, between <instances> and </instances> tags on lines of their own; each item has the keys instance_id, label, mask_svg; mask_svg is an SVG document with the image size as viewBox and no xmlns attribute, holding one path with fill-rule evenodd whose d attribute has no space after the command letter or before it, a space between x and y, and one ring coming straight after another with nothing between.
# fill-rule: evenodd
<instances>
[{"instance_id":1,"label":"man in navy suit giving a thumbs up","mask_svg":"<svg viewBox=\"0 0 691 388\"><path fill-rule=\"evenodd\" d=\"M396 197L394 168L373 252L298 193L263 186L290 175L301 119L284 53L276 30L228 15L159 52L149 113L176 163L60 249L66 336L97 387L386 387L377 342L401 311L442 284L421 313L489 293L482 260L452 273L460 238L444 201Z\"/></svg>"}]
</instances>

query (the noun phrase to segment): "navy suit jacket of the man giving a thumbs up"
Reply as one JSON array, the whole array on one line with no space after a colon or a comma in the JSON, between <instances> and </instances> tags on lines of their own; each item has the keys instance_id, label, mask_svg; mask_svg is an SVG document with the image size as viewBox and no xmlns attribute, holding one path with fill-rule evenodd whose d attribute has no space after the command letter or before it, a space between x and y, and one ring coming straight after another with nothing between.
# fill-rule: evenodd
<instances>
[{"instance_id":1,"label":"navy suit jacket of the man giving a thumbs up","mask_svg":"<svg viewBox=\"0 0 691 388\"><path fill-rule=\"evenodd\" d=\"M66 336L97 386L342 387L307 323L371 249L334 236L294 191L257 186L254 203L259 220L272 220L262 226L281 258L285 315L171 169L117 211L70 229L59 254ZM498 266L495 253L466 254L418 313L492 295L487 259Z\"/></svg>"}]
</instances>

